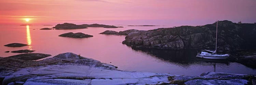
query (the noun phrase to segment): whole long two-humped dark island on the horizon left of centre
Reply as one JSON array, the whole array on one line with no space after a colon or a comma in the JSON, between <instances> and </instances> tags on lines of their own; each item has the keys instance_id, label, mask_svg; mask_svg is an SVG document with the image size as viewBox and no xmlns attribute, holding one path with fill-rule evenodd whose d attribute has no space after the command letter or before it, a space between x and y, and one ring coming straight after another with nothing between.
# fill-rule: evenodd
<instances>
[{"instance_id":1,"label":"whole long two-humped dark island on the horizon left of centre","mask_svg":"<svg viewBox=\"0 0 256 85\"><path fill-rule=\"evenodd\" d=\"M116 26L109 26L109 25L104 25L104 24L81 24L81 25L76 25L73 23L63 23L63 24L57 24L55 27L56 29L82 29L82 28L87 28L87 27L102 27L102 28L118 28ZM122 27L119 27L122 28Z\"/></svg>"}]
</instances>

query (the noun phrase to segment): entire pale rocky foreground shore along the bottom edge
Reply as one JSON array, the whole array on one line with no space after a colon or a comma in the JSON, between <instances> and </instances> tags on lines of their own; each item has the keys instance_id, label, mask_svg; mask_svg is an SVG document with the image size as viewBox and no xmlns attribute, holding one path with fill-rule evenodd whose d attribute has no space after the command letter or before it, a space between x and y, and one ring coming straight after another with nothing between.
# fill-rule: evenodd
<instances>
[{"instance_id":1,"label":"entire pale rocky foreground shore along the bottom edge","mask_svg":"<svg viewBox=\"0 0 256 85\"><path fill-rule=\"evenodd\" d=\"M200 76L117 70L115 66L73 53L41 61L0 57L2 85L145 85L145 84L255 84L255 75L205 72Z\"/></svg>"}]
</instances>

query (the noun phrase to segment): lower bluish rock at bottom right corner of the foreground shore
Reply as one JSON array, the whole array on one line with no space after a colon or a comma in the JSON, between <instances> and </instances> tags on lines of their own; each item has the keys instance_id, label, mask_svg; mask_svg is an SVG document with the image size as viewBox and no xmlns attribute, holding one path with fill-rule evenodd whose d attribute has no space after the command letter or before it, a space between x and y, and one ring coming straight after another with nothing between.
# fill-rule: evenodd
<instances>
[{"instance_id":1,"label":"lower bluish rock at bottom right corner of the foreground shore","mask_svg":"<svg viewBox=\"0 0 256 85\"><path fill-rule=\"evenodd\" d=\"M255 75L205 72L200 76L169 77L171 84L179 85L245 85L252 84Z\"/></svg>"}]
</instances>

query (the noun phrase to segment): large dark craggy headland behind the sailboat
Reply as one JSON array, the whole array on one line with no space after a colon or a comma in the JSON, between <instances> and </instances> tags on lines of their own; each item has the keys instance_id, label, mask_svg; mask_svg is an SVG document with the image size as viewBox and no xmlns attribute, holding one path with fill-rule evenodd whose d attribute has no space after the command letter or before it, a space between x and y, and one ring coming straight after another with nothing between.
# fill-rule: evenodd
<instances>
[{"instance_id":1,"label":"large dark craggy headland behind the sailboat","mask_svg":"<svg viewBox=\"0 0 256 85\"><path fill-rule=\"evenodd\" d=\"M219 21L217 51L230 53L241 49L256 49L255 29L256 24ZM214 50L216 22L196 27L159 28L133 35L127 36L122 43L146 48Z\"/></svg>"}]
</instances>

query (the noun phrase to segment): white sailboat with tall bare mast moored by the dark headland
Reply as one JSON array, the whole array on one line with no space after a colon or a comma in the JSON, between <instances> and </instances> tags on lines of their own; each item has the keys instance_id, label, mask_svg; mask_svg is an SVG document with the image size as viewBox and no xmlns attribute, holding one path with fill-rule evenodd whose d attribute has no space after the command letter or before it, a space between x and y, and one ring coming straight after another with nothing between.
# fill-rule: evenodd
<instances>
[{"instance_id":1,"label":"white sailboat with tall bare mast moored by the dark headland","mask_svg":"<svg viewBox=\"0 0 256 85\"><path fill-rule=\"evenodd\" d=\"M227 59L229 57L229 54L217 54L217 33L218 33L218 21L216 21L216 45L215 45L215 51L210 50L202 50L201 53L197 53L196 57L205 58L205 59Z\"/></svg>"}]
</instances>

